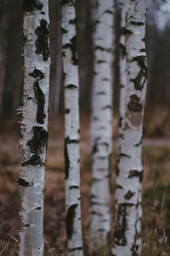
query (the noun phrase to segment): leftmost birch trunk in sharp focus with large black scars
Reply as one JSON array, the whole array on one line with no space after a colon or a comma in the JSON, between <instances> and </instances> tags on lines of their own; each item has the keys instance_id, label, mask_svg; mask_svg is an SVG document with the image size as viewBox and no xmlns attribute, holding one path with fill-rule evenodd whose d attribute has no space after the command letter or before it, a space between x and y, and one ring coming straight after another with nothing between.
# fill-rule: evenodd
<instances>
[{"instance_id":1,"label":"leftmost birch trunk in sharp focus with large black scars","mask_svg":"<svg viewBox=\"0 0 170 256\"><path fill-rule=\"evenodd\" d=\"M43 192L48 143L49 2L24 0L24 92L20 133L19 256L44 253Z\"/></svg>"}]
</instances>

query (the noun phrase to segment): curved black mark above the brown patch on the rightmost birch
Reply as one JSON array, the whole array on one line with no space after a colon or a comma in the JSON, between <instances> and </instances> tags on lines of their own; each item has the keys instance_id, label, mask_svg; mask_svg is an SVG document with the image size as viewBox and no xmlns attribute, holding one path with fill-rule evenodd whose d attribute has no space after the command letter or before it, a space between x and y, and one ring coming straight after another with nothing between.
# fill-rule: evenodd
<instances>
[{"instance_id":1,"label":"curved black mark above the brown patch on the rightmost birch","mask_svg":"<svg viewBox=\"0 0 170 256\"><path fill-rule=\"evenodd\" d=\"M139 71L137 77L135 77L135 79L131 79L131 81L134 83L136 90L142 91L145 85L145 82L147 80L147 72L148 72L148 68L145 64L146 56L137 56L131 60L131 62L133 61L137 62L141 70Z\"/></svg>"}]
</instances>

